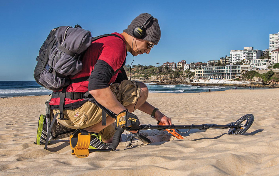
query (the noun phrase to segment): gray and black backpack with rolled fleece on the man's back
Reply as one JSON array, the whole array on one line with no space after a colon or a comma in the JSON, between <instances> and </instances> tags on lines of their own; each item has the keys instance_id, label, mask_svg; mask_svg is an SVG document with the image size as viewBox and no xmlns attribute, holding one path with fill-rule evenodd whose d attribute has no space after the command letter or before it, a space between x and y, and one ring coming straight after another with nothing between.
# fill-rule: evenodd
<instances>
[{"instance_id":1,"label":"gray and black backpack with rolled fleece on the man's back","mask_svg":"<svg viewBox=\"0 0 279 176\"><path fill-rule=\"evenodd\" d=\"M91 43L99 38L115 36L105 34L98 37L91 37L91 32L86 31L79 25L60 26L49 33L46 41L41 46L34 78L38 84L47 89L57 91L73 82L82 82L89 77L69 79L82 69L82 56Z\"/></svg>"}]
</instances>

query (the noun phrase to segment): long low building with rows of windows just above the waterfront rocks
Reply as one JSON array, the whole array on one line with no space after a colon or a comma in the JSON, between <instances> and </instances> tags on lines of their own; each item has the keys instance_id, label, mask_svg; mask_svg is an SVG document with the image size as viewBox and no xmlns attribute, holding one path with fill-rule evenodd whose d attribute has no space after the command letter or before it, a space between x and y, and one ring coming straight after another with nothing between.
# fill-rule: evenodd
<instances>
[{"instance_id":1,"label":"long low building with rows of windows just above the waterfront rocks","mask_svg":"<svg viewBox=\"0 0 279 176\"><path fill-rule=\"evenodd\" d=\"M240 76L241 65L225 65L225 66L210 66L204 67L201 70L196 70L194 79L235 79Z\"/></svg>"}]
</instances>

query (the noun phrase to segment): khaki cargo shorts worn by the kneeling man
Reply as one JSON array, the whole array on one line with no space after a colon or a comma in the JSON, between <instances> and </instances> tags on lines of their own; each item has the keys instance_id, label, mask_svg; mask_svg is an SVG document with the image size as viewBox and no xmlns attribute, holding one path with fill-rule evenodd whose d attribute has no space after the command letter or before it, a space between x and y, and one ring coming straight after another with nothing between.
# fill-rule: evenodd
<instances>
[{"instance_id":1,"label":"khaki cargo shorts worn by the kneeling man","mask_svg":"<svg viewBox=\"0 0 279 176\"><path fill-rule=\"evenodd\" d=\"M135 104L140 96L140 85L136 81L124 80L121 83L110 85L110 89L123 106ZM57 112L59 112L59 109L53 110L54 114ZM85 102L79 108L63 110L63 114L69 120L59 120L57 118L58 123L72 129L87 128L102 120L102 109L90 101ZM99 132L103 141L110 139L114 133L115 123Z\"/></svg>"}]
</instances>

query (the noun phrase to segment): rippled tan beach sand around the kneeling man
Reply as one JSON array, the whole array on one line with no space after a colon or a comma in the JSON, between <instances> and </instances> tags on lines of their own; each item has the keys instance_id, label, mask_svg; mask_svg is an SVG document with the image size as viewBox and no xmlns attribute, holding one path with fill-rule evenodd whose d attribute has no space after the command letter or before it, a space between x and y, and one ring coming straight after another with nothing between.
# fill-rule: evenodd
<instances>
[{"instance_id":1,"label":"rippled tan beach sand around the kneeling man","mask_svg":"<svg viewBox=\"0 0 279 176\"><path fill-rule=\"evenodd\" d=\"M48 96L0 99L1 175L278 175L279 89L226 90L193 94L150 93L148 102L175 125L228 124L245 114L255 121L245 135L228 129L191 130L183 140L163 131L143 131L153 141L123 142L115 152L71 155L68 138L35 145L38 117ZM135 111L142 124L156 124ZM185 130L186 131L186 130Z\"/></svg>"}]
</instances>

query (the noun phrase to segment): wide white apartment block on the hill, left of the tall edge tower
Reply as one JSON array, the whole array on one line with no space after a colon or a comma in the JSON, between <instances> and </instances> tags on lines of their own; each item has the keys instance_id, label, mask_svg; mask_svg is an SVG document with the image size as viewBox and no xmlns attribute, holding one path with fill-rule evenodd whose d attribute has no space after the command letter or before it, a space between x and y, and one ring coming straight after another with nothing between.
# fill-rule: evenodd
<instances>
[{"instance_id":1,"label":"wide white apartment block on the hill, left of the tall edge tower","mask_svg":"<svg viewBox=\"0 0 279 176\"><path fill-rule=\"evenodd\" d=\"M231 50L230 55L233 64L242 60L252 62L251 60L259 59L263 55L263 51L254 50L253 47L244 47L243 50Z\"/></svg>"}]
</instances>

